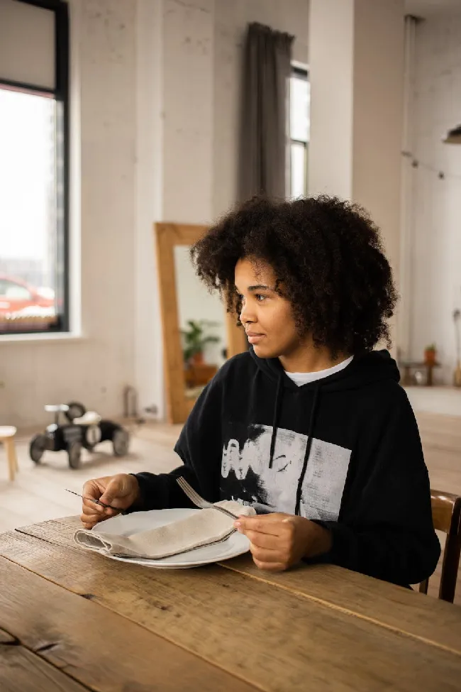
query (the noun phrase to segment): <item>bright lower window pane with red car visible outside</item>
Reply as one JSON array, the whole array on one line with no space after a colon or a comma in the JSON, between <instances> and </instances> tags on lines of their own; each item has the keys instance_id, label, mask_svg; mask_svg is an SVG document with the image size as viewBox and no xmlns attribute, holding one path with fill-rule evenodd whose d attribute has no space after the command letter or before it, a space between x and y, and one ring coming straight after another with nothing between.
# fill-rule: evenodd
<instances>
[{"instance_id":1,"label":"bright lower window pane with red car visible outside","mask_svg":"<svg viewBox=\"0 0 461 692\"><path fill-rule=\"evenodd\" d=\"M0 331L57 324L56 101L0 88Z\"/></svg>"}]
</instances>

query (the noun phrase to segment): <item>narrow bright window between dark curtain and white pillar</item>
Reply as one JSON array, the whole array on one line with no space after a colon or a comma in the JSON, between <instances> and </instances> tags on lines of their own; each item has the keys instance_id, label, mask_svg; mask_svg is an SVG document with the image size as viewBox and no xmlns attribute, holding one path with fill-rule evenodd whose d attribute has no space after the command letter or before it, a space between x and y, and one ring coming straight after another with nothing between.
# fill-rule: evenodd
<instances>
[{"instance_id":1,"label":"narrow bright window between dark curtain and white pillar","mask_svg":"<svg viewBox=\"0 0 461 692\"><path fill-rule=\"evenodd\" d=\"M309 74L293 67L290 79L290 192L291 198L307 194L309 154Z\"/></svg>"}]
</instances>

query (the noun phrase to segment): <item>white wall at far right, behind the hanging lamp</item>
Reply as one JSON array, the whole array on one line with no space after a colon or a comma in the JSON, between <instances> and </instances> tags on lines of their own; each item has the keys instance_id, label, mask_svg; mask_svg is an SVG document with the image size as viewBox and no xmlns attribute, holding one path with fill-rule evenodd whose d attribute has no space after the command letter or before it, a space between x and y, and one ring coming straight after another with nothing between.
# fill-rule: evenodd
<instances>
[{"instance_id":1,"label":"white wall at far right, behind the hanging lamp","mask_svg":"<svg viewBox=\"0 0 461 692\"><path fill-rule=\"evenodd\" d=\"M421 358L435 341L444 365L440 375L451 383L451 314L461 308L461 146L442 139L461 123L461 7L418 24L414 95L414 153L421 165L413 169L413 251L406 258L412 267L411 356Z\"/></svg>"}]
</instances>

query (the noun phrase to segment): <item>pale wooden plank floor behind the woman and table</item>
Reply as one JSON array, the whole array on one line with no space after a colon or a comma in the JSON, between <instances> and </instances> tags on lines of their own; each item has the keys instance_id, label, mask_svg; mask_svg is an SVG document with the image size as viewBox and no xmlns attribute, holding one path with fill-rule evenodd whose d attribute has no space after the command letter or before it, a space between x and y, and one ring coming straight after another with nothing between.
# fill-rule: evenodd
<instances>
[{"instance_id":1,"label":"pale wooden plank floor behind the woman and table","mask_svg":"<svg viewBox=\"0 0 461 692\"><path fill-rule=\"evenodd\" d=\"M461 417L438 414L417 414L424 454L431 478L431 487L461 495ZM40 466L28 456L28 439L19 436L17 451L19 473L8 480L4 450L0 449L0 533L34 522L78 514L79 498L65 488L81 492L88 478L111 476L113 473L152 471L161 473L177 466L179 459L173 446L180 426L150 424L132 429L130 454L124 458L111 456L111 446L101 445L97 454L87 455L77 471L67 466L64 453L48 453ZM439 534L443 542L443 534ZM429 585L430 595L438 591L438 566ZM461 576L461 571L460 571ZM455 603L461 605L461 579Z\"/></svg>"}]
</instances>

